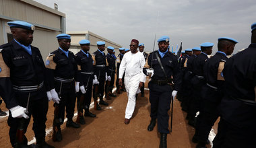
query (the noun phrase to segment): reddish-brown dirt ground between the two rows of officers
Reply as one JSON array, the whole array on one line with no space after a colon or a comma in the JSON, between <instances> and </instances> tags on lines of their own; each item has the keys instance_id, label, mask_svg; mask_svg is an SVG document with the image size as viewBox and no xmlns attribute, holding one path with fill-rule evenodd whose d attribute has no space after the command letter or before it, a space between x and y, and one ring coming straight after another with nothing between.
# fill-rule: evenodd
<instances>
[{"instance_id":1,"label":"reddish-brown dirt ground between the two rows of officers","mask_svg":"<svg viewBox=\"0 0 256 148\"><path fill-rule=\"evenodd\" d=\"M145 91L145 97L141 97L139 94L130 124L124 124L127 104L126 92L107 102L109 106L102 106L103 110L96 111L91 108L91 112L97 117L86 117L86 124L82 125L81 128L66 128L64 123L61 126L63 141L55 143L51 140L54 108L53 102L49 102L46 130L50 132L46 135L46 142L54 147L159 147L160 135L157 126L151 132L147 130L150 123L148 90ZM172 133L167 135L167 146L175 148L195 147L195 143L191 141L195 129L187 124L185 119L187 113L181 110L180 104L178 100L174 101ZM5 104L1 104L0 108L7 110L4 106ZM76 116L74 120L75 118ZM216 125L214 126L215 131L217 131ZM0 129L0 147L11 147L7 117L0 119ZM28 141L34 137L32 120L28 126L26 137ZM207 147L210 148L211 145L207 145Z\"/></svg>"}]
</instances>

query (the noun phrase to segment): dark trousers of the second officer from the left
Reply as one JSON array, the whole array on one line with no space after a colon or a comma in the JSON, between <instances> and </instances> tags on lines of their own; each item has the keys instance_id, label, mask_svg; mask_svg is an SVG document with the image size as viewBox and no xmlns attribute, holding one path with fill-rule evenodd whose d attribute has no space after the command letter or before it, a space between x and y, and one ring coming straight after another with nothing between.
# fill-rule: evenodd
<instances>
[{"instance_id":1,"label":"dark trousers of the second officer from the left","mask_svg":"<svg viewBox=\"0 0 256 148\"><path fill-rule=\"evenodd\" d=\"M55 83L55 89L57 88L56 91L58 94L60 91L60 86L61 86L60 82ZM61 101L59 102L59 114L57 118L61 118L62 120L64 120L65 108L66 108L66 112L67 112L66 117L68 120L72 120L74 116L75 101L76 101L74 81L70 83L62 83L60 99Z\"/></svg>"}]
</instances>

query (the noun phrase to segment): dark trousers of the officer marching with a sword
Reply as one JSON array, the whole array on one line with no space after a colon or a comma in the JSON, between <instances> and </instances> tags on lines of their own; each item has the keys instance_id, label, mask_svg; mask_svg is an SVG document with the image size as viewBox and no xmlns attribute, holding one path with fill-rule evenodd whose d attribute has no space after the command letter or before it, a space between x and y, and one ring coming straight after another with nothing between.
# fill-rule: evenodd
<instances>
[{"instance_id":1,"label":"dark trousers of the officer marching with a sword","mask_svg":"<svg viewBox=\"0 0 256 148\"><path fill-rule=\"evenodd\" d=\"M158 119L158 132L169 133L168 121L172 89L170 85L157 85L149 83L150 88L150 117Z\"/></svg>"}]
</instances>

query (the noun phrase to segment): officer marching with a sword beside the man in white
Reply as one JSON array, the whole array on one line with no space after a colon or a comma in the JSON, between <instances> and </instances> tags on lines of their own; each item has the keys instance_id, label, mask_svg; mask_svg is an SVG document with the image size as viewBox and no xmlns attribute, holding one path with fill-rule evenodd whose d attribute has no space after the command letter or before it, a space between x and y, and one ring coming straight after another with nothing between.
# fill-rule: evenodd
<instances>
[{"instance_id":1,"label":"officer marching with a sword beside the man in white","mask_svg":"<svg viewBox=\"0 0 256 148\"><path fill-rule=\"evenodd\" d=\"M159 50L150 53L148 65L152 69L143 69L146 75L152 75L148 83L150 89L150 117L148 131L152 131L158 119L158 132L160 133L160 147L167 147L166 137L168 130L168 110L171 98L175 98L181 87L180 67L178 59L167 50L170 38L162 36L158 39ZM160 62L159 62L160 61ZM162 64L162 67L160 66ZM174 85L172 85L172 78Z\"/></svg>"}]
</instances>

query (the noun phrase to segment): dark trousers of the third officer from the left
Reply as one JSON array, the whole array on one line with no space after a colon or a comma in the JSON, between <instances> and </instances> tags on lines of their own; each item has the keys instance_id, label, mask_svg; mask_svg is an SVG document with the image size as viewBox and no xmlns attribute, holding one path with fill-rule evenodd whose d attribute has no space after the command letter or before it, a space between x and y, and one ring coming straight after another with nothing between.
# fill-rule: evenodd
<instances>
[{"instance_id":1,"label":"dark trousers of the third officer from the left","mask_svg":"<svg viewBox=\"0 0 256 148\"><path fill-rule=\"evenodd\" d=\"M86 87L86 86L84 86ZM84 96L84 102L80 102L81 96ZM88 86L86 88L86 94L82 94L81 91L77 93L77 102L80 102L82 108L89 109L92 100L92 81L89 81ZM77 103L77 110L79 110ZM83 110L81 110L83 112Z\"/></svg>"}]
</instances>

